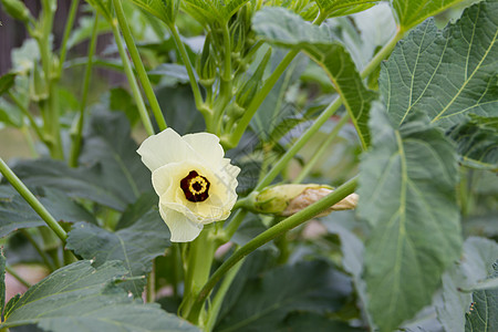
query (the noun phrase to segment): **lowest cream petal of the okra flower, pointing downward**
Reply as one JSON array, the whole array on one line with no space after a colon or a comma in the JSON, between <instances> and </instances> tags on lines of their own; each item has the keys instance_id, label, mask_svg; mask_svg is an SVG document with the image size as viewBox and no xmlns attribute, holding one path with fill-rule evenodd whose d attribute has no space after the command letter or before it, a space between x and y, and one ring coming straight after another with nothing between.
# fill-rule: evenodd
<instances>
[{"instance_id":1,"label":"lowest cream petal of the okra flower, pointing downward","mask_svg":"<svg viewBox=\"0 0 498 332\"><path fill-rule=\"evenodd\" d=\"M163 207L159 204L159 212L172 234L172 242L189 242L197 238L203 230L203 225L197 225L175 210Z\"/></svg>"}]
</instances>

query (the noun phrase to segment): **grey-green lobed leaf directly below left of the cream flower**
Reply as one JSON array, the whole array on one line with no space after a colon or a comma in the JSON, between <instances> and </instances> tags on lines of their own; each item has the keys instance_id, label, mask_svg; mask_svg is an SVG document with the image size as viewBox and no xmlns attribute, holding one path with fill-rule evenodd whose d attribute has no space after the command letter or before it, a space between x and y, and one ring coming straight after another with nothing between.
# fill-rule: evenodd
<instances>
[{"instance_id":1,"label":"grey-green lobed leaf directly below left of the cream flower","mask_svg":"<svg viewBox=\"0 0 498 332\"><path fill-rule=\"evenodd\" d=\"M121 260L129 277L122 287L135 297L141 297L152 261L163 255L169 246L169 231L158 211L149 211L135 224L116 232L98 226L79 222L68 234L66 248L85 259L94 259L96 266Z\"/></svg>"}]
</instances>

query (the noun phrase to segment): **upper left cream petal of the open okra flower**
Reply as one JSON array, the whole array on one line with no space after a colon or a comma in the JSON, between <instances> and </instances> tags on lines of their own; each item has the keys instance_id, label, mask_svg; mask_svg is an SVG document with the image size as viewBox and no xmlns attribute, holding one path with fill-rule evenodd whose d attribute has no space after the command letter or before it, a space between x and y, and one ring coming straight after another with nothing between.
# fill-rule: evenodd
<instances>
[{"instance_id":1,"label":"upper left cream petal of the open okra flower","mask_svg":"<svg viewBox=\"0 0 498 332\"><path fill-rule=\"evenodd\" d=\"M169 163L193 159L196 155L190 145L172 128L149 136L136 152L142 156L142 162L151 172Z\"/></svg>"}]
</instances>

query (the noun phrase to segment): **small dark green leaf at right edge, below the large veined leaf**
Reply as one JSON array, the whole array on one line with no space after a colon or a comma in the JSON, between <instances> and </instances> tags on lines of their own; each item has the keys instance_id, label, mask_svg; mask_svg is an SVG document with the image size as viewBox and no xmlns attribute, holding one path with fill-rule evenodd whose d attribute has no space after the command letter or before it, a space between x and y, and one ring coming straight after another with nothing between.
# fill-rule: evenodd
<instances>
[{"instance_id":1,"label":"small dark green leaf at right edge, below the large veined leaf","mask_svg":"<svg viewBox=\"0 0 498 332\"><path fill-rule=\"evenodd\" d=\"M456 142L461 164L498 170L498 117L470 114L470 120L453 127L447 135Z\"/></svg>"}]
</instances>

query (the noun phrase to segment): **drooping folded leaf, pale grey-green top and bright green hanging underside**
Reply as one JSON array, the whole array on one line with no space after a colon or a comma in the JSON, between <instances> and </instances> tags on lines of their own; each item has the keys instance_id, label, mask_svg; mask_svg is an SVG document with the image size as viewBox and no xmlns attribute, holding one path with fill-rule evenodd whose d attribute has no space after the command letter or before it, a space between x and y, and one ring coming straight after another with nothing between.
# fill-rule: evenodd
<instances>
[{"instance_id":1,"label":"drooping folded leaf, pale grey-green top and bright green hanging underside","mask_svg":"<svg viewBox=\"0 0 498 332\"><path fill-rule=\"evenodd\" d=\"M271 24L269 24L271 22ZM375 94L369 91L345 48L330 25L317 27L283 8L266 8L253 20L253 30L268 42L302 49L329 75L351 115L363 147L370 143L369 111Z\"/></svg>"}]
</instances>

